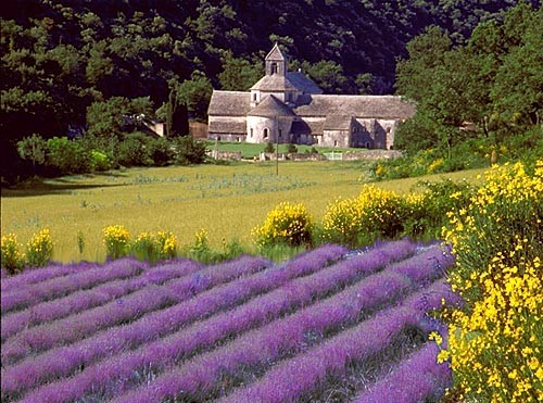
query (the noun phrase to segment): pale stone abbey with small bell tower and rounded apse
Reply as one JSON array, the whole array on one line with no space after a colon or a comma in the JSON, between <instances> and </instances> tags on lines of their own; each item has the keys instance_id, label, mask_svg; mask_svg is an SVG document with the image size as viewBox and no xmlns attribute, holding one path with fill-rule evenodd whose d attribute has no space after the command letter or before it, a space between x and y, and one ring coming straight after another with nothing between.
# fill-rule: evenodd
<instances>
[{"instance_id":1,"label":"pale stone abbey with small bell tower and rounded apse","mask_svg":"<svg viewBox=\"0 0 543 403\"><path fill-rule=\"evenodd\" d=\"M395 96L323 95L303 73L288 71L277 45L265 66L250 92L213 91L210 139L392 149L397 125L415 113Z\"/></svg>"}]
</instances>

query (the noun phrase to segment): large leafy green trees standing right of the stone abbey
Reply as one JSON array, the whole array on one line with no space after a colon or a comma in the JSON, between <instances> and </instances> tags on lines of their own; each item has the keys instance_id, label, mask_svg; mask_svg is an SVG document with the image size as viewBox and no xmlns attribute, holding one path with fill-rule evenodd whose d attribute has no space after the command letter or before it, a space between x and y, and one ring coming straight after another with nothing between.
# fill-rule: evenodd
<instances>
[{"instance_id":1,"label":"large leafy green trees standing right of the stone abbey","mask_svg":"<svg viewBox=\"0 0 543 403\"><path fill-rule=\"evenodd\" d=\"M503 18L480 23L464 43L439 27L408 42L395 85L417 112L399 129L396 146L450 149L469 136L497 148L527 130L542 136L542 27L543 10L520 2Z\"/></svg>"}]
</instances>

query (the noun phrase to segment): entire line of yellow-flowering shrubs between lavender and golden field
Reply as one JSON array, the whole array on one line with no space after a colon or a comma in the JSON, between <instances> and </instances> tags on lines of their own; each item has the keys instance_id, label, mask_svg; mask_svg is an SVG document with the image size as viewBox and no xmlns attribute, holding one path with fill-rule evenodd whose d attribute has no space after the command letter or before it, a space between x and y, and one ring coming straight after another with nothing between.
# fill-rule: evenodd
<instances>
[{"instance_id":1,"label":"entire line of yellow-flowering shrubs between lavender and golden field","mask_svg":"<svg viewBox=\"0 0 543 403\"><path fill-rule=\"evenodd\" d=\"M439 238L446 222L446 212L464 209L473 189L466 182L451 179L421 181L419 186L424 188L421 192L400 196L366 185L357 198L331 202L320 225L315 223L303 204L283 202L268 213L262 226L252 230L252 236L261 253L270 257L278 250L282 254L294 253L298 252L295 248L330 242L363 247L376 239L405 236L422 240ZM27 262L23 259L22 245L16 242L16 237L2 237L2 267L9 274L22 270L25 265L45 265L51 260L52 242L47 229L43 231L28 242ZM78 234L77 242L83 252L85 240L81 234ZM172 232L141 232L132 239L122 225L105 227L103 243L110 260L132 255L151 263L174 259L179 253L200 262L214 263L238 256L247 250L237 241L225 241L223 251L213 250L207 241L207 231L201 229L189 249L178 251L177 239Z\"/></svg>"}]
</instances>

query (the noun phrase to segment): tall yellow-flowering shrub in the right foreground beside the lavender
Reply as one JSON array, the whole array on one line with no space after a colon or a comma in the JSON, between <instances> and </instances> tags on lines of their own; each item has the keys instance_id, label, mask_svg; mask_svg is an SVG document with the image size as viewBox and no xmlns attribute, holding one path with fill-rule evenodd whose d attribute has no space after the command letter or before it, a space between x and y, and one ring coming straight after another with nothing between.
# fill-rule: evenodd
<instances>
[{"instance_id":1,"label":"tall yellow-flowering shrub in the right foreground beside the lavender","mask_svg":"<svg viewBox=\"0 0 543 403\"><path fill-rule=\"evenodd\" d=\"M443 229L456 267L447 280L465 300L445 311L459 401L543 400L543 161L494 166L466 209Z\"/></svg>"}]
</instances>

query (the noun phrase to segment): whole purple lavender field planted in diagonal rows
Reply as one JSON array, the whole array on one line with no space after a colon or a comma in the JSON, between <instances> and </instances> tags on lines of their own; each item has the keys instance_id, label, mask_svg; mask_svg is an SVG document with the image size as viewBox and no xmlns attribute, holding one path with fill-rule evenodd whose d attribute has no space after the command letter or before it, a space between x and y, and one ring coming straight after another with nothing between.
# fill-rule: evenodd
<instances>
[{"instance_id":1,"label":"whole purple lavender field planted in diagonal rows","mask_svg":"<svg viewBox=\"0 0 543 403\"><path fill-rule=\"evenodd\" d=\"M2 402L418 402L451 383L439 244L282 264L122 259L1 279Z\"/></svg>"}]
</instances>

